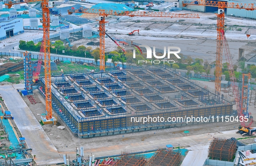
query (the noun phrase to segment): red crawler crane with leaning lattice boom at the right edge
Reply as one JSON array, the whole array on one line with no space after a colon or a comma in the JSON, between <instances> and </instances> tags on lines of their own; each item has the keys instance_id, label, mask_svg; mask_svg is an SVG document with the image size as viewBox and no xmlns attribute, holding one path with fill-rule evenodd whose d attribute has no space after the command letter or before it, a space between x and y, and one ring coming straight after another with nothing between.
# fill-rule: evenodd
<instances>
[{"instance_id":1,"label":"red crawler crane with leaning lattice boom at the right edge","mask_svg":"<svg viewBox=\"0 0 256 166\"><path fill-rule=\"evenodd\" d=\"M253 134L256 134L256 129L253 129L252 128L252 124L253 124L253 118L250 118L250 123L249 125L246 125L246 122L249 121L249 112L248 112L248 100L247 100L247 104L245 105L245 107L243 106L243 103L245 101L243 101L244 99L248 99L247 96L244 96L244 89L247 88L247 95L249 95L249 85L250 85L250 73L249 74L244 74L243 73L243 87L241 89L241 96L240 96L240 91L239 91L239 88L237 86L237 81L236 81L236 76L235 76L235 72L234 72L234 65L233 65L233 59L232 59L232 56L231 56L231 53L230 53L230 49L229 49L229 46L228 46L228 43L227 43L227 38L225 36L225 32L224 30L220 30L220 36L221 36L221 40L222 40L222 43L223 43L223 47L221 49L224 50L224 54L225 54L225 57L227 58L227 61L228 61L228 65L227 65L227 68L228 68L228 72L230 74L230 81L232 82L231 83L231 86L232 86L232 89L233 89L233 95L234 95L234 98L235 98L235 102L236 102L236 107L237 107L237 115L238 115L238 118L235 119L235 121L240 121L241 122L241 125L238 127L238 131L237 133L241 133L242 136L245 136L245 135L253 135ZM245 76L248 77L248 85L244 85L244 78Z\"/></svg>"}]
</instances>

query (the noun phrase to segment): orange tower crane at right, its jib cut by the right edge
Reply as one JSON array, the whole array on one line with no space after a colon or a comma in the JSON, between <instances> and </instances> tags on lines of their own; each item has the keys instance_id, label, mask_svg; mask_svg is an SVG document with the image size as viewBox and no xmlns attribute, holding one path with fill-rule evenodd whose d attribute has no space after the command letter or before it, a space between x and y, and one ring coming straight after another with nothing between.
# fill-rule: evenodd
<instances>
[{"instance_id":1,"label":"orange tower crane at right, its jib cut by the right edge","mask_svg":"<svg viewBox=\"0 0 256 166\"><path fill-rule=\"evenodd\" d=\"M224 9L245 9L256 10L256 6L253 3L231 3L220 1L208 1L208 0L194 0L194 1L182 1L182 6L188 5L201 5L201 6L213 6L218 7L217 13L217 51L216 51L216 72L215 72L215 90L220 94L221 90L221 73L222 73L222 48L223 40L221 37L222 31L224 31ZM247 34L247 37L250 35Z\"/></svg>"}]
</instances>

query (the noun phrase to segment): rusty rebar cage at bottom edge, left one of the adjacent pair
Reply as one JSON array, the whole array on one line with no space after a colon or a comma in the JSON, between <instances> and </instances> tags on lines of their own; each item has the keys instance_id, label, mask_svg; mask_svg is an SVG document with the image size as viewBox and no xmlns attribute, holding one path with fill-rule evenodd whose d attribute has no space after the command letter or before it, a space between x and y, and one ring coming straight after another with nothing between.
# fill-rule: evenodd
<instances>
[{"instance_id":1,"label":"rusty rebar cage at bottom edge, left one of the adjacent pair","mask_svg":"<svg viewBox=\"0 0 256 166\"><path fill-rule=\"evenodd\" d=\"M143 156L129 156L123 154L113 166L146 166L146 159Z\"/></svg>"}]
</instances>

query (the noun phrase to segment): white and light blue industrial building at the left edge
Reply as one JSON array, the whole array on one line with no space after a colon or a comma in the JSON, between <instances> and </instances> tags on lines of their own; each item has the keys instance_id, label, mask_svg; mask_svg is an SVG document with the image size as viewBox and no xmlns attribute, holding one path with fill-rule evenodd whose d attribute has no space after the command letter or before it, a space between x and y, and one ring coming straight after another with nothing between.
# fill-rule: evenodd
<instances>
[{"instance_id":1,"label":"white and light blue industrial building at the left edge","mask_svg":"<svg viewBox=\"0 0 256 166\"><path fill-rule=\"evenodd\" d=\"M24 33L23 18L17 16L0 17L0 40Z\"/></svg>"}]
</instances>

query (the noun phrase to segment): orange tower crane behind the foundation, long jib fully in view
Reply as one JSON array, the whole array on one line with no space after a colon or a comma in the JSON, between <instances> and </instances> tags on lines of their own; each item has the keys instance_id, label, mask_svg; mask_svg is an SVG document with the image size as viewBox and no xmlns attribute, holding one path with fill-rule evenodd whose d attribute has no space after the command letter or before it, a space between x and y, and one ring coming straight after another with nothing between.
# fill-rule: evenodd
<instances>
[{"instance_id":1,"label":"orange tower crane behind the foundation, long jib fully in view","mask_svg":"<svg viewBox=\"0 0 256 166\"><path fill-rule=\"evenodd\" d=\"M176 13L165 13L165 12L141 12L141 11L118 11L118 10L97 10L97 9L84 9L81 7L80 9L70 9L68 10L68 14L72 13L93 13L99 14L99 30L100 30L100 70L105 70L105 18L108 15L115 16L146 16L146 17L181 17L181 18L199 18L198 14L176 14Z\"/></svg>"}]
</instances>

